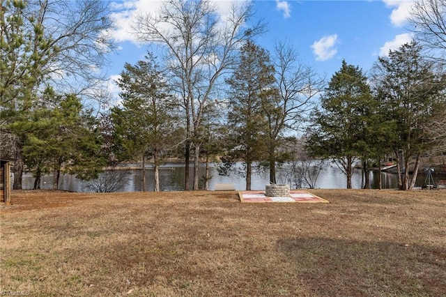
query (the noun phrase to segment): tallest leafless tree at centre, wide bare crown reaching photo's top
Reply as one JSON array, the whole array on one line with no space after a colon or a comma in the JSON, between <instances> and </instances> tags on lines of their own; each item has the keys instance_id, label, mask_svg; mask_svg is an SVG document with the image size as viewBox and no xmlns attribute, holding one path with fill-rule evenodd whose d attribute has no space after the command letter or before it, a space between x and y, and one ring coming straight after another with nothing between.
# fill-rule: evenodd
<instances>
[{"instance_id":1,"label":"tallest leafless tree at centre, wide bare crown reaching photo's top","mask_svg":"<svg viewBox=\"0 0 446 297\"><path fill-rule=\"evenodd\" d=\"M199 152L203 110L215 96L220 77L234 65L236 51L249 37L263 30L261 23L246 29L251 4L234 1L225 20L215 3L207 0L171 0L154 14L140 15L134 25L139 39L164 50L164 61L176 83L185 111L185 190L189 190L189 162L194 151L194 184L199 188Z\"/></svg>"}]
</instances>

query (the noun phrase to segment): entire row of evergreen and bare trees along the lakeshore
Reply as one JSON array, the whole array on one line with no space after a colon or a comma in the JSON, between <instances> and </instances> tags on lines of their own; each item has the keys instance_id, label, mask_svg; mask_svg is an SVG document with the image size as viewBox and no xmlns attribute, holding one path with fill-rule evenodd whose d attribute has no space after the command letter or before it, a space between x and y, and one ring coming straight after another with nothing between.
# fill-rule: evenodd
<instances>
[{"instance_id":1,"label":"entire row of evergreen and bare trees along the lakeshore","mask_svg":"<svg viewBox=\"0 0 446 297\"><path fill-rule=\"evenodd\" d=\"M220 20L212 1L165 1L134 24L141 42L162 54L149 51L125 64L116 82L121 100L109 109L102 108L104 77L93 67L106 63L113 48L107 6L57 3L63 5L7 0L1 6L1 148L16 160L15 189L24 167L36 177L34 188L51 172L57 188L61 172L91 180L106 166L141 160L144 170L150 160L153 190L160 190L159 166L178 157L185 190L197 190L200 181L207 188L208 164L218 156L226 169L243 161L250 190L253 165L277 182L277 167L295 158L288 148L296 131L308 155L337 162L347 188L357 160L367 176L374 162L395 153L400 188L408 190L422 155L445 153L445 73L437 56L446 45L441 33L431 43L426 36L434 26L423 22L432 11L445 17L445 1L417 1L411 22L420 38L379 57L369 75L342 61L328 82L289 41L271 53L256 44L266 25L254 20L249 3L235 1ZM199 176L203 162L206 175Z\"/></svg>"}]
</instances>

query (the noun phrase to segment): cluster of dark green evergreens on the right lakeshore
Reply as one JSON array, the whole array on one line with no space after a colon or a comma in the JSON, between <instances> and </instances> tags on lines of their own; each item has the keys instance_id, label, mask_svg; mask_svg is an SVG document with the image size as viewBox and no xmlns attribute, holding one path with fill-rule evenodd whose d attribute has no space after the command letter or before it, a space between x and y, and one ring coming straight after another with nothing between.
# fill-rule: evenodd
<instances>
[{"instance_id":1,"label":"cluster of dark green evergreens on the right lakeshore","mask_svg":"<svg viewBox=\"0 0 446 297\"><path fill-rule=\"evenodd\" d=\"M437 70L415 42L378 58L370 77L342 61L314 112L308 148L315 156L334 158L347 176L347 188L356 160L362 163L368 188L371 165L377 163L380 169L380 160L394 153L399 188L413 189L422 155L441 144L438 130L428 128L438 119L444 123L446 115L446 76Z\"/></svg>"}]
</instances>

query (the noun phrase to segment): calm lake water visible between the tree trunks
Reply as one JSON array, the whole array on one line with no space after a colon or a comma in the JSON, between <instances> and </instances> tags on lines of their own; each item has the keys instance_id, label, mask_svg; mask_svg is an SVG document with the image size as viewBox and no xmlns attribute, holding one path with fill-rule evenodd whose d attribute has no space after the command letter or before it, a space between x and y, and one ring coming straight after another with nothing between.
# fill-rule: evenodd
<instances>
[{"instance_id":1,"label":"calm lake water visible between the tree trunks","mask_svg":"<svg viewBox=\"0 0 446 297\"><path fill-rule=\"evenodd\" d=\"M141 170L121 170L121 180L123 185L119 188L120 192L134 192L142 190L142 172ZM200 168L200 175L204 175L204 165ZM192 167L190 169L190 181L192 181ZM378 188L378 172L370 172L371 187ZM398 188L397 174L390 174L381 172L383 180L383 188ZM210 175L213 176L209 181L209 190L214 190L217 183L232 183L236 190L245 190L245 177L240 176L234 172L230 172L229 176L221 176L217 172L217 167L213 165L210 168ZM277 183L286 183L277 174ZM433 173L435 181L439 179L445 179L446 176L438 176ZM421 172L417 176L416 186L421 187L424 185L426 175ZM171 190L183 190L184 189L184 167L181 164L167 164L164 165L164 169L160 170L160 188L163 191ZM24 189L33 188L34 178L31 174L24 174L22 186ZM269 184L269 174L265 172L255 172L252 176L252 189L264 190L265 185ZM353 170L352 186L355 189L362 188L364 185L364 176L361 169ZM52 189L52 175L43 176L40 184L42 189ZM192 189L192 184L190 185ZM295 187L293 187L295 188ZM304 187L305 188L305 187ZM325 166L318 176L315 188L346 188L346 176L342 174L341 170L335 165ZM59 189L68 190L72 192L92 192L91 189L86 187L84 181L80 181L75 176L69 174L61 175L59 181ZM153 190L153 170L146 170L146 190Z\"/></svg>"}]
</instances>

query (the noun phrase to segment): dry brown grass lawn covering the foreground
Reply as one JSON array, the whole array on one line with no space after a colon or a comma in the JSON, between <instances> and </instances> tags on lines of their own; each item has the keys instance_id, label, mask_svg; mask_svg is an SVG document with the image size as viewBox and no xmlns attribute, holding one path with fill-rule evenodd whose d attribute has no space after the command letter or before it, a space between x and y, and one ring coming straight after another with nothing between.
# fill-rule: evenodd
<instances>
[{"instance_id":1,"label":"dry brown grass lawn covering the foreground","mask_svg":"<svg viewBox=\"0 0 446 297\"><path fill-rule=\"evenodd\" d=\"M446 191L13 192L1 294L445 296Z\"/></svg>"}]
</instances>

